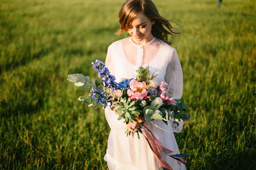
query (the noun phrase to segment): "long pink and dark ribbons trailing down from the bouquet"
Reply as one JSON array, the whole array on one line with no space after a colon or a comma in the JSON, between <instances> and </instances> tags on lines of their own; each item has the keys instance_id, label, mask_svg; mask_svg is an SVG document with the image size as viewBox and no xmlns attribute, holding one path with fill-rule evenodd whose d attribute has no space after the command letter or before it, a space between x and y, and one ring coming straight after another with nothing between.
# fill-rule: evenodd
<instances>
[{"instance_id":1,"label":"long pink and dark ribbons trailing down from the bouquet","mask_svg":"<svg viewBox=\"0 0 256 170\"><path fill-rule=\"evenodd\" d=\"M141 127L141 132L142 132L142 135L145 136L146 139L148 140L148 142L150 143L152 152L153 152L154 157L156 158L156 160L157 160L157 162L159 164L159 167L166 168L166 169L169 169L169 170L173 170L170 167L170 165L168 163L166 163L164 158L161 156L159 150L161 150L161 151L163 151L165 153L169 153L171 156L177 155L177 153L173 152L173 151L170 151L169 149L165 148L160 143L160 141L156 138L156 136L154 136L154 134L148 128L146 128L146 126L142 126ZM184 164L186 163L186 161L184 159L182 159L181 157L179 159ZM178 160L178 164L181 167L181 164L180 164L179 160Z\"/></svg>"}]
</instances>

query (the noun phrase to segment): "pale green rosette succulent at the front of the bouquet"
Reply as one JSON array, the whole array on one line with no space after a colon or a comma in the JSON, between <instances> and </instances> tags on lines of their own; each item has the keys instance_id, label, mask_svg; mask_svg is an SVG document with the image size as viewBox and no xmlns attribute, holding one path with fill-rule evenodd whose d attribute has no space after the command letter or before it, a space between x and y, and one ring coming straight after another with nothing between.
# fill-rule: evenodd
<instances>
[{"instance_id":1,"label":"pale green rosette succulent at the front of the bouquet","mask_svg":"<svg viewBox=\"0 0 256 170\"><path fill-rule=\"evenodd\" d=\"M138 100L131 101L131 98L121 98L120 102L117 104L120 108L115 110L116 112L119 112L118 120L121 120L121 118L125 117L126 124L133 121L138 121L138 119L135 117L135 115L141 115L142 110L139 109L139 104L141 102Z\"/></svg>"}]
</instances>

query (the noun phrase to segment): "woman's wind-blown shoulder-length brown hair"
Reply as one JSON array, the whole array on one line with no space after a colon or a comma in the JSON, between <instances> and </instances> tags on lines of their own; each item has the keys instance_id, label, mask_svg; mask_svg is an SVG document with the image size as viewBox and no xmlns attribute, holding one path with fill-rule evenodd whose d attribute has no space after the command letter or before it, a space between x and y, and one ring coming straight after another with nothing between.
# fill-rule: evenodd
<instances>
[{"instance_id":1,"label":"woman's wind-blown shoulder-length brown hair","mask_svg":"<svg viewBox=\"0 0 256 170\"><path fill-rule=\"evenodd\" d=\"M119 35L122 32L126 32L129 29L130 23L136 15L141 12L143 12L143 14L151 21L154 21L151 31L154 37L171 45L172 42L168 41L168 35L173 36L173 34L180 34L179 29L170 25L170 20L161 17L157 7L151 0L127 0L123 3L123 6L119 11L119 23L121 27L115 34Z\"/></svg>"}]
</instances>

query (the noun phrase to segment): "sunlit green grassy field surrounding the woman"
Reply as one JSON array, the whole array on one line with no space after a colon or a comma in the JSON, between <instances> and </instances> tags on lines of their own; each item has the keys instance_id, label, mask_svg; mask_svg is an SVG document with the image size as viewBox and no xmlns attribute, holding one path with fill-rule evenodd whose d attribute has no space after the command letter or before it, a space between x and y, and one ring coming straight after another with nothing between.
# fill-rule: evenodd
<instances>
[{"instance_id":1,"label":"sunlit green grassy field surrounding the woman","mask_svg":"<svg viewBox=\"0 0 256 170\"><path fill-rule=\"evenodd\" d=\"M66 79L96 77L91 61L126 36L114 34L123 2L0 1L0 169L107 169L103 110ZM191 121L175 136L189 167L255 169L256 2L154 2L182 32L172 46Z\"/></svg>"}]
</instances>

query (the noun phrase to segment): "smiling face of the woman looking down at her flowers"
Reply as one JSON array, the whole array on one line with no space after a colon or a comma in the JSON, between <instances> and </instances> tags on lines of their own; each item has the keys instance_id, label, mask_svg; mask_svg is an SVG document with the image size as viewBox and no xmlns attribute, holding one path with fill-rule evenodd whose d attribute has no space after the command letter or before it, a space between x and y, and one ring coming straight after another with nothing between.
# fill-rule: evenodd
<instances>
[{"instance_id":1,"label":"smiling face of the woman looking down at her flowers","mask_svg":"<svg viewBox=\"0 0 256 170\"><path fill-rule=\"evenodd\" d=\"M131 22L127 32L131 35L134 42L144 44L144 42L151 41L153 34L151 33L154 22L150 21L142 12L139 13Z\"/></svg>"}]
</instances>

